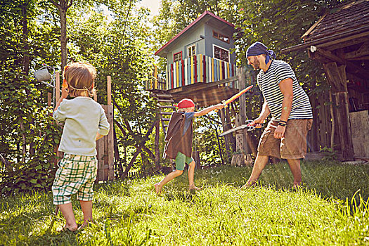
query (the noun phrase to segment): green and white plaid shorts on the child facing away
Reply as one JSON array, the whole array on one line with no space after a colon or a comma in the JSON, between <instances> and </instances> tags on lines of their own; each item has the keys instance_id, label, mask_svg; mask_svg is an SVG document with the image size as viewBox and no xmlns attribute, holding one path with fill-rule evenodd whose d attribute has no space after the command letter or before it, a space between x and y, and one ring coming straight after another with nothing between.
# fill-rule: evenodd
<instances>
[{"instance_id":1,"label":"green and white plaid shorts on the child facing away","mask_svg":"<svg viewBox=\"0 0 369 246\"><path fill-rule=\"evenodd\" d=\"M71 195L76 193L77 200L91 201L98 171L96 157L64 154L58 166L52 188L54 205L70 203Z\"/></svg>"}]
</instances>

